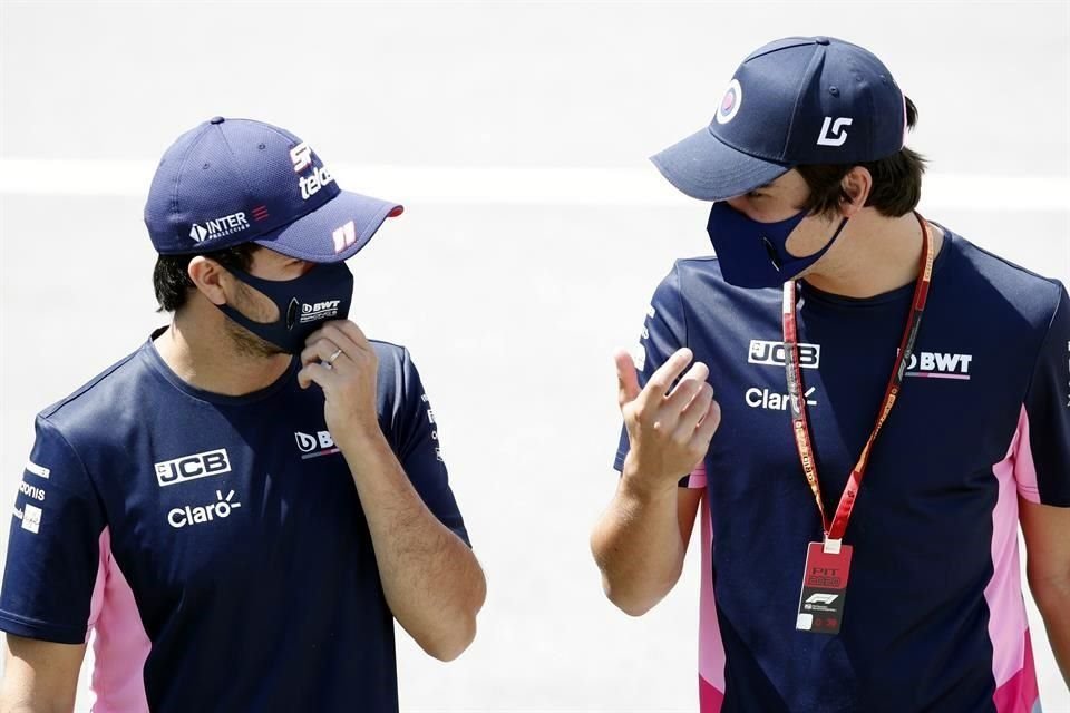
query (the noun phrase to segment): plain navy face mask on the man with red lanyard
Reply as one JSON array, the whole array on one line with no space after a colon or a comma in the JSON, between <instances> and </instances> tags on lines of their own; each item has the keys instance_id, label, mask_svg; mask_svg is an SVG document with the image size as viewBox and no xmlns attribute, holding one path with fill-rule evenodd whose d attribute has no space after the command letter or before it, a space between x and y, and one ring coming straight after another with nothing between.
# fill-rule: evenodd
<instances>
[{"instance_id":1,"label":"plain navy face mask on the man with red lanyard","mask_svg":"<svg viewBox=\"0 0 1070 713\"><path fill-rule=\"evenodd\" d=\"M737 287L780 286L820 260L847 225L844 218L825 247L796 257L788 252L788 236L805 217L806 211L800 211L784 221L759 223L727 203L714 203L706 232L717 251L724 282Z\"/></svg>"}]
</instances>

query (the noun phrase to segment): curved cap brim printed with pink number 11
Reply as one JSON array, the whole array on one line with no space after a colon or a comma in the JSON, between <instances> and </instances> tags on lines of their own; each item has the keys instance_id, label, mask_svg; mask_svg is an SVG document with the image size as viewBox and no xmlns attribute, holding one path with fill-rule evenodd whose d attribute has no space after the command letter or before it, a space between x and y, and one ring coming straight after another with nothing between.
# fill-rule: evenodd
<instances>
[{"instance_id":1,"label":"curved cap brim printed with pink number 11","mask_svg":"<svg viewBox=\"0 0 1070 713\"><path fill-rule=\"evenodd\" d=\"M253 242L298 260L337 263L356 255L383 221L402 211L399 203L342 191L312 213Z\"/></svg>"}]
</instances>

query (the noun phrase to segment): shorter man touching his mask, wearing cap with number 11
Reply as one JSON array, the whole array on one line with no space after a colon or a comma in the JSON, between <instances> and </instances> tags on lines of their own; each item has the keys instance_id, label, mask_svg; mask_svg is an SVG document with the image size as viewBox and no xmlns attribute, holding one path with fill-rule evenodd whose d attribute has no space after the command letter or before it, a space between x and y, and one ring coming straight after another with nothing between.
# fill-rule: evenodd
<instances>
[{"instance_id":1,"label":"shorter man touching his mask, wearing cap with number 11","mask_svg":"<svg viewBox=\"0 0 1070 713\"><path fill-rule=\"evenodd\" d=\"M174 313L37 417L11 522L0 710L397 711L393 622L450 660L483 573L409 352L347 320L401 206L285 130L216 117L145 222Z\"/></svg>"}]
</instances>

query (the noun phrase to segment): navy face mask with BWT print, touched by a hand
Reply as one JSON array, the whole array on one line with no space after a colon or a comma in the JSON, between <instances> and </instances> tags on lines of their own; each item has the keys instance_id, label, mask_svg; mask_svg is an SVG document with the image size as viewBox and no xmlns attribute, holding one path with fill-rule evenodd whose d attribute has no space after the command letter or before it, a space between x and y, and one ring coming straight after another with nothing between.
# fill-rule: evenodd
<instances>
[{"instance_id":1,"label":"navy face mask with BWT print, touched by a hand","mask_svg":"<svg viewBox=\"0 0 1070 713\"><path fill-rule=\"evenodd\" d=\"M232 270L231 274L274 302L279 319L254 322L228 304L218 305L220 310L284 352L296 354L323 322L349 316L353 273L346 263L322 263L294 280L264 280L241 270Z\"/></svg>"}]
</instances>

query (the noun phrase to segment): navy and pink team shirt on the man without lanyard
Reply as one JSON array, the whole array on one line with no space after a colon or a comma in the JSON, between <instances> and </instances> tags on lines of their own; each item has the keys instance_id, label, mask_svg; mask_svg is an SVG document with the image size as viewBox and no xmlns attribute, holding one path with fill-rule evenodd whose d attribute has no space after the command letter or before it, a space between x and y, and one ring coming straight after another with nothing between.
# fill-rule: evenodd
<instances>
[{"instance_id":1,"label":"navy and pink team shirt on the man without lanyard","mask_svg":"<svg viewBox=\"0 0 1070 713\"><path fill-rule=\"evenodd\" d=\"M379 426L467 543L409 353L372 345ZM364 510L323 392L302 390L299 368L220 395L175 375L149 340L38 414L0 628L65 644L94 628L97 713L397 711Z\"/></svg>"}]
</instances>

